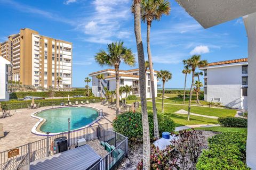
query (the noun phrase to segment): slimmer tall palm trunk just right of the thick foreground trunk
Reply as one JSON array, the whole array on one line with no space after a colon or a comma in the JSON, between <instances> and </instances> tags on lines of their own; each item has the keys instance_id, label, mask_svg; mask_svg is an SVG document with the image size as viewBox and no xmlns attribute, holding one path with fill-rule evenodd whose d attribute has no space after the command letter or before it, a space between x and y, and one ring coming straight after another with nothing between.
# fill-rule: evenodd
<instances>
[{"instance_id":1,"label":"slimmer tall palm trunk just right of the thick foreground trunk","mask_svg":"<svg viewBox=\"0 0 256 170\"><path fill-rule=\"evenodd\" d=\"M151 50L150 50L150 28L151 28L151 23L148 23L147 24L147 51L148 51L149 71L150 71L151 98L152 98L152 105L153 105L154 135L155 135L155 138L158 139L159 138L159 130L158 130L158 120L157 120L157 111L156 111L153 63L152 63Z\"/></svg>"}]
</instances>

